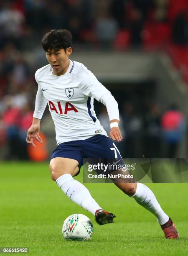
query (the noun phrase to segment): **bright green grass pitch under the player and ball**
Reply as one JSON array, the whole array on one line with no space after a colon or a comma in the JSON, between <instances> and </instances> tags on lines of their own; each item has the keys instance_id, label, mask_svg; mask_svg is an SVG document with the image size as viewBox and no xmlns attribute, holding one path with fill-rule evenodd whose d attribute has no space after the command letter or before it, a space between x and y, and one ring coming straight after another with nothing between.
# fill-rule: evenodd
<instances>
[{"instance_id":1,"label":"bright green grass pitch under the player and ball","mask_svg":"<svg viewBox=\"0 0 188 256\"><path fill-rule=\"evenodd\" d=\"M82 173L76 177L82 181ZM179 240L166 240L150 212L114 184L86 184L99 205L117 218L99 226L51 180L48 163L0 163L0 247L29 247L29 255L188 255L188 184L148 184L174 220ZM91 241L65 241L61 228L73 213L94 224Z\"/></svg>"}]
</instances>

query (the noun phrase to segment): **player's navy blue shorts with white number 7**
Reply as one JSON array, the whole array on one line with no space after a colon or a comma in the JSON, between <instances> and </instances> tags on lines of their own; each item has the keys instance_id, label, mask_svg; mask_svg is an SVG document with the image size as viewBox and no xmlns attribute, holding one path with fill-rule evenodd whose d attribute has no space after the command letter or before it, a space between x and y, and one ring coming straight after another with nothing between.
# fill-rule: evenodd
<instances>
[{"instance_id":1,"label":"player's navy blue shorts with white number 7","mask_svg":"<svg viewBox=\"0 0 188 256\"><path fill-rule=\"evenodd\" d=\"M119 150L111 139L104 135L96 135L86 140L69 141L61 143L52 152L51 159L66 157L79 162L79 171L83 159L121 159L119 164L124 164Z\"/></svg>"}]
</instances>

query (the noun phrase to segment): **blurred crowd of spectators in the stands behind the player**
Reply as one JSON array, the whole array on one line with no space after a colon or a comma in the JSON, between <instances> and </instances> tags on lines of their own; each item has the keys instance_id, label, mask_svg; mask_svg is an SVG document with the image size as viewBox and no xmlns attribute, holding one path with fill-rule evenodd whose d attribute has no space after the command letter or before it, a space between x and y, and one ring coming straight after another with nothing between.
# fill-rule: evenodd
<instances>
[{"instance_id":1,"label":"blurred crowd of spectators in the stands behind the player","mask_svg":"<svg viewBox=\"0 0 188 256\"><path fill-rule=\"evenodd\" d=\"M46 32L56 28L71 31L74 47L126 50L168 46L172 58L177 60L179 54L179 60L182 56L183 60L175 64L185 81L188 79L188 57L184 53L188 50L187 0L0 0L0 150L8 144L5 158L28 158L25 136L37 87L34 72L40 63L33 65L25 56L40 47ZM178 113L176 128L178 120L183 120ZM140 157L142 138L147 144L145 157L157 156L166 127L159 106L150 106L147 116L141 118L134 105L125 102L121 115L126 156ZM180 125L179 135L174 136L180 138L183 127ZM160 144L158 148L152 147L152 140ZM171 148L176 151L175 146Z\"/></svg>"}]
</instances>

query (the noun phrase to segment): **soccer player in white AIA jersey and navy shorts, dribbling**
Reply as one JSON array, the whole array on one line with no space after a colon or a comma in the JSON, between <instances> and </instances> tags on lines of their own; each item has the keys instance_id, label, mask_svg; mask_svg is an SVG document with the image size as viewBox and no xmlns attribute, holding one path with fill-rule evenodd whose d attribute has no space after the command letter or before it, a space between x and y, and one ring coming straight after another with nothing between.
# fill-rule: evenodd
<instances>
[{"instance_id":1,"label":"soccer player in white AIA jersey and navy shorts, dribbling","mask_svg":"<svg viewBox=\"0 0 188 256\"><path fill-rule=\"evenodd\" d=\"M26 142L39 135L40 121L48 104L56 129L57 148L50 161L51 178L76 204L95 215L99 225L112 223L114 214L100 207L88 189L73 177L80 171L83 158L122 159L113 141L121 141L118 127L119 110L114 97L83 64L70 60L72 36L65 29L51 30L42 39L48 65L35 74L38 83L33 123ZM110 138L94 112L94 98L107 107ZM166 238L178 238L172 220L160 207L152 191L141 183L114 182L125 194L133 197L154 214Z\"/></svg>"}]
</instances>

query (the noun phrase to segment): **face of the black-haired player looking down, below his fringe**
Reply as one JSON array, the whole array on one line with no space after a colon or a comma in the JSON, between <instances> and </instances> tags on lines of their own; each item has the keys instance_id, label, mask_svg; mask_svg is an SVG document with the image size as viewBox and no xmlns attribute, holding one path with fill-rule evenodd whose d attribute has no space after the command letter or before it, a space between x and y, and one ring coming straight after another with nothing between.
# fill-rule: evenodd
<instances>
[{"instance_id":1,"label":"face of the black-haired player looking down, below his fringe","mask_svg":"<svg viewBox=\"0 0 188 256\"><path fill-rule=\"evenodd\" d=\"M65 74L69 67L69 56L72 53L72 48L69 47L66 49L59 49L57 50L48 50L46 52L46 59L51 64L53 68L53 74L56 76L61 76Z\"/></svg>"}]
</instances>

